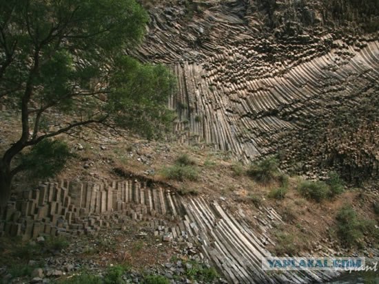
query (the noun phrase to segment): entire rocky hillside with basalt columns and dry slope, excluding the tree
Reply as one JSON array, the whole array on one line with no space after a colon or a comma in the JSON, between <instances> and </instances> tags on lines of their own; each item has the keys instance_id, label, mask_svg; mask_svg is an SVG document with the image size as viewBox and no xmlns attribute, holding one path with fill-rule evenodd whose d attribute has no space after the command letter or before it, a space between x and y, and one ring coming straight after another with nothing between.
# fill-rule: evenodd
<instances>
[{"instance_id":1,"label":"entire rocky hillside with basalt columns and dry slope, excluding the tree","mask_svg":"<svg viewBox=\"0 0 379 284\"><path fill-rule=\"evenodd\" d=\"M61 173L14 178L0 283L328 283L261 258L376 261L378 1L141 2L147 36L127 52L176 74L173 132L60 135ZM0 106L0 128L3 151L20 114Z\"/></svg>"}]
</instances>

